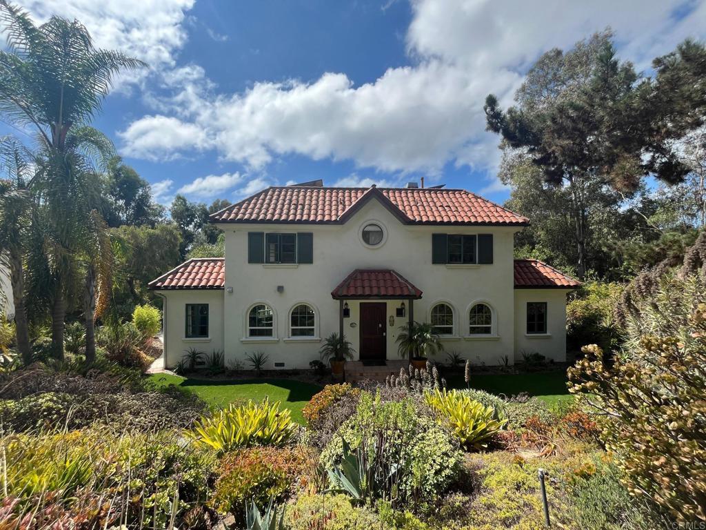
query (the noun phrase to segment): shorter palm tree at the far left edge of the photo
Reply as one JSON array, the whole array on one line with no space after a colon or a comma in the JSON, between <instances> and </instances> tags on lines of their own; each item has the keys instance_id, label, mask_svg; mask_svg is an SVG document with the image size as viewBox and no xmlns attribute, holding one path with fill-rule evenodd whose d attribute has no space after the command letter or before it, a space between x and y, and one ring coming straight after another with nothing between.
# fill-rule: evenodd
<instances>
[{"instance_id":1,"label":"shorter palm tree at the far left edge of the photo","mask_svg":"<svg viewBox=\"0 0 706 530\"><path fill-rule=\"evenodd\" d=\"M0 267L8 273L12 285L17 349L25 365L32 363L23 258L30 223L27 182L31 158L31 154L11 137L0 140L0 160L9 177L0 180Z\"/></svg>"}]
</instances>

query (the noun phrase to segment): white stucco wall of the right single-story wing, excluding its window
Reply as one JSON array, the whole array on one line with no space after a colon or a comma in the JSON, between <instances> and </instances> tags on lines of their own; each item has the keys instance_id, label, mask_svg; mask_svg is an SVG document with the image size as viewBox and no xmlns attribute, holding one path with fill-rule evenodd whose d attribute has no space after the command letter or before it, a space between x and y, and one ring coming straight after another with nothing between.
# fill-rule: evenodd
<instances>
[{"instance_id":1,"label":"white stucco wall of the right single-story wing, excluding its window","mask_svg":"<svg viewBox=\"0 0 706 530\"><path fill-rule=\"evenodd\" d=\"M566 361L566 289L515 289L515 361L522 352ZM527 334L527 302L547 302L546 335Z\"/></svg>"}]
</instances>

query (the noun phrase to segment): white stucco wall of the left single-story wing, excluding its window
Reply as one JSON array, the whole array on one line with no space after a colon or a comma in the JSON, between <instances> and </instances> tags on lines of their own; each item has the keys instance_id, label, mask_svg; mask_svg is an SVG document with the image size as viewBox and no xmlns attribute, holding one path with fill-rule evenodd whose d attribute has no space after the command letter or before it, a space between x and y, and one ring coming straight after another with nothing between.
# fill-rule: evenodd
<instances>
[{"instance_id":1,"label":"white stucco wall of the left single-story wing, excluding its window","mask_svg":"<svg viewBox=\"0 0 706 530\"><path fill-rule=\"evenodd\" d=\"M158 290L164 297L164 365L174 367L184 351L196 348L210 355L223 346L222 290ZM208 304L208 338L186 338L186 304ZM227 358L226 358L227 363Z\"/></svg>"}]
</instances>

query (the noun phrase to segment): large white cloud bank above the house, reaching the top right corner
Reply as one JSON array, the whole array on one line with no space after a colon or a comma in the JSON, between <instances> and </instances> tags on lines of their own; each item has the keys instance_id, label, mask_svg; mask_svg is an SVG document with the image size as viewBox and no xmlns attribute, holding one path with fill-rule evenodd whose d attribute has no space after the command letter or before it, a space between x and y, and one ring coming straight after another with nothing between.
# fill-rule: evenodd
<instances>
[{"instance_id":1,"label":"large white cloud bank above the house, reaching the top right corner","mask_svg":"<svg viewBox=\"0 0 706 530\"><path fill-rule=\"evenodd\" d=\"M134 156L170 158L208 148L255 170L295 153L402 174L436 177L450 162L492 172L498 138L485 131L488 93L511 102L539 54L571 47L608 25L621 57L648 66L685 37L706 36L700 23L705 6L704 0L514 0L501 6L412 0L410 66L364 84L327 72L311 81L265 80L230 94L215 93L190 69L171 96L160 98L162 116L137 119L121 137ZM181 132L164 134L167 119Z\"/></svg>"}]
</instances>

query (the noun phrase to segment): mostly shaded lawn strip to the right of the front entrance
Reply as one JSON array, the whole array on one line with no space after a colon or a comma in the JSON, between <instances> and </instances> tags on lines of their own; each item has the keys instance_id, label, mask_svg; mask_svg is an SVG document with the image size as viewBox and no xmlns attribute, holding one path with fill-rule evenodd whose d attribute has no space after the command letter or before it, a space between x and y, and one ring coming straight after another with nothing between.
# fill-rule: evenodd
<instances>
[{"instance_id":1,"label":"mostly shaded lawn strip to the right of the front entrance","mask_svg":"<svg viewBox=\"0 0 706 530\"><path fill-rule=\"evenodd\" d=\"M450 388L466 387L462 372L449 374L446 379ZM527 392L546 404L573 399L566 388L566 372L471 375L471 387L508 397Z\"/></svg>"}]
</instances>

